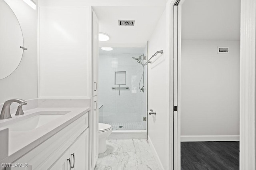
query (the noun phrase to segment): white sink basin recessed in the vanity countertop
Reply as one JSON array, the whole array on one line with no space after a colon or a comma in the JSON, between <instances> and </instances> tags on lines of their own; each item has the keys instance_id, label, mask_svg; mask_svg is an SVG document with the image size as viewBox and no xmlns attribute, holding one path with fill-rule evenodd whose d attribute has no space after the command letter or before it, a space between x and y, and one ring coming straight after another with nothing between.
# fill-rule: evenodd
<instances>
[{"instance_id":1,"label":"white sink basin recessed in the vanity countertop","mask_svg":"<svg viewBox=\"0 0 256 170\"><path fill-rule=\"evenodd\" d=\"M15 121L10 122L6 128L9 128L9 131L33 130L62 117L66 113L68 112L37 112L34 113L32 117L23 117L23 119L16 119Z\"/></svg>"}]
</instances>

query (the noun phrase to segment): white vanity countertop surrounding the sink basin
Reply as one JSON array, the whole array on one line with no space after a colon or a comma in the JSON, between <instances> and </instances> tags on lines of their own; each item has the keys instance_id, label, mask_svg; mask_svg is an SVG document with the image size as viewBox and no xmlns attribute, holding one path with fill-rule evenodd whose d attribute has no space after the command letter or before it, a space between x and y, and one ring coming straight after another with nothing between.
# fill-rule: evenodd
<instances>
[{"instance_id":1,"label":"white vanity countertop surrounding the sink basin","mask_svg":"<svg viewBox=\"0 0 256 170\"><path fill-rule=\"evenodd\" d=\"M12 115L12 118L0 120L0 130L3 127L8 126L12 122L16 122L18 119L26 119L32 117L34 113L37 112L68 112L58 119L46 123L38 128L27 131L9 131L9 141L8 141L8 157L0 160L0 163L11 163L14 160L18 159L20 156L23 156L52 135L56 134L64 127L70 125L76 119L84 115L90 110L90 108L36 108L24 111L24 115L15 116ZM62 113L61 113L62 112Z\"/></svg>"}]
</instances>

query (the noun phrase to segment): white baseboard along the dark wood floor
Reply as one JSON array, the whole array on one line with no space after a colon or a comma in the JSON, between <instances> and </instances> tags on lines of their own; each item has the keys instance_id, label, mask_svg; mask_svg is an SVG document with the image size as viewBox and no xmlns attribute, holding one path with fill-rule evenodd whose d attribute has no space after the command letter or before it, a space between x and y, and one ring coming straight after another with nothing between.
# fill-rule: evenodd
<instances>
[{"instance_id":1,"label":"white baseboard along the dark wood floor","mask_svg":"<svg viewBox=\"0 0 256 170\"><path fill-rule=\"evenodd\" d=\"M239 135L180 136L181 142L239 141Z\"/></svg>"}]
</instances>

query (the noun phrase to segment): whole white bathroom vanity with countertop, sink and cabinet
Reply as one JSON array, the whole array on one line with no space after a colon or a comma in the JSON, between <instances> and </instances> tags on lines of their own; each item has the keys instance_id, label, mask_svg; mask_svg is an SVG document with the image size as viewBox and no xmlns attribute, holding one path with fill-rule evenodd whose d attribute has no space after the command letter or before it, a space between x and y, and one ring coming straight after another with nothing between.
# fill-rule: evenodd
<instances>
[{"instance_id":1,"label":"whole white bathroom vanity with countertop, sink and cabinet","mask_svg":"<svg viewBox=\"0 0 256 170\"><path fill-rule=\"evenodd\" d=\"M89 111L36 108L1 120L0 136L6 140L1 147L8 148L1 167L12 163L6 170L88 170Z\"/></svg>"}]
</instances>

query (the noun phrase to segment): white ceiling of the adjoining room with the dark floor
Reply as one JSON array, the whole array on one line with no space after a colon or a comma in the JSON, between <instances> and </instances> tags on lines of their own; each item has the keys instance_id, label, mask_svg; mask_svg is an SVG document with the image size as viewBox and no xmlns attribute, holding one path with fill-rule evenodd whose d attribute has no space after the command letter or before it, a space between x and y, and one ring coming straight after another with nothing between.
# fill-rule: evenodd
<instances>
[{"instance_id":1,"label":"white ceiling of the adjoining room with the dark floor","mask_svg":"<svg viewBox=\"0 0 256 170\"><path fill-rule=\"evenodd\" d=\"M185 0L182 40L240 40L240 0Z\"/></svg>"}]
</instances>

